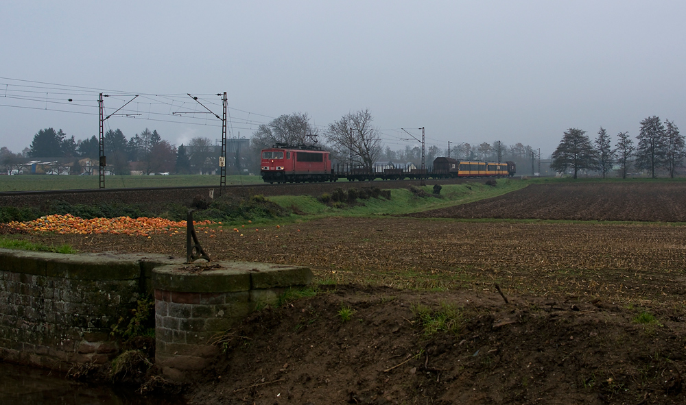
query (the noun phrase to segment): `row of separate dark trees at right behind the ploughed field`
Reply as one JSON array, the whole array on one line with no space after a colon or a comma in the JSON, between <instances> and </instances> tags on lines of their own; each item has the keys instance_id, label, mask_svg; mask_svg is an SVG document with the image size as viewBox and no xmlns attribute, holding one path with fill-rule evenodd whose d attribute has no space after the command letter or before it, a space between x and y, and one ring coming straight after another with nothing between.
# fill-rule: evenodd
<instances>
[{"instance_id":1,"label":"row of separate dark trees at right behind the ploughed field","mask_svg":"<svg viewBox=\"0 0 686 405\"><path fill-rule=\"evenodd\" d=\"M659 116L643 119L636 138L637 145L628 132L619 132L613 147L603 127L593 141L586 131L569 128L552 154L550 167L558 173L570 171L575 179L580 171L597 171L605 178L615 165L622 178L626 178L630 164L650 172L653 178L660 172L673 178L677 169L684 167L685 138L674 121L663 123Z\"/></svg>"}]
</instances>

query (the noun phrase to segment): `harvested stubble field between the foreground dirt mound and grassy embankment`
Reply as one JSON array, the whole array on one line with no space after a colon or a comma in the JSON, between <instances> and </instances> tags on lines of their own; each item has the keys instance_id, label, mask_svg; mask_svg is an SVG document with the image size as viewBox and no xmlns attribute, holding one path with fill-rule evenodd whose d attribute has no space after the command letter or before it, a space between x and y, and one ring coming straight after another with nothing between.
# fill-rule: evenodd
<instances>
[{"instance_id":1,"label":"harvested stubble field between the foreground dirt mound and grassy embankment","mask_svg":"<svg viewBox=\"0 0 686 405\"><path fill-rule=\"evenodd\" d=\"M499 282L510 295L659 307L686 293L684 226L329 218L238 229L201 234L203 248L216 259L307 265L326 283L480 290ZM166 234L22 237L79 251L185 256L185 238Z\"/></svg>"}]
</instances>

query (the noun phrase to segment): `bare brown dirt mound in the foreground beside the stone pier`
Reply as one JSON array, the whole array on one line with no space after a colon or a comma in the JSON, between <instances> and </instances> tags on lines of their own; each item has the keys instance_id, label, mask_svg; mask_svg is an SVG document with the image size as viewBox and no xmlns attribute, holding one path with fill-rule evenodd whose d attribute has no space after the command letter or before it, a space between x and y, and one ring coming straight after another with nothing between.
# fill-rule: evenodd
<instances>
[{"instance_id":1,"label":"bare brown dirt mound in the foreground beside the stone pier","mask_svg":"<svg viewBox=\"0 0 686 405\"><path fill-rule=\"evenodd\" d=\"M335 286L226 337L193 404L679 404L683 319L578 297ZM426 335L413 308L458 309ZM338 311L353 315L342 321Z\"/></svg>"}]
</instances>

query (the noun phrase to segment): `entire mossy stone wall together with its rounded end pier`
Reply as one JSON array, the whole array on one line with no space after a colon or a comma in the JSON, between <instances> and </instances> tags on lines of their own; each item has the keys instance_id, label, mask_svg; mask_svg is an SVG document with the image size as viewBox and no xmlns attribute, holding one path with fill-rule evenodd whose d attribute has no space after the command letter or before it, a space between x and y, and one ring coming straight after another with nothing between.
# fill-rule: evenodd
<instances>
[{"instance_id":1,"label":"entire mossy stone wall together with its rounded end pier","mask_svg":"<svg viewBox=\"0 0 686 405\"><path fill-rule=\"evenodd\" d=\"M156 363L187 378L211 363L233 324L311 280L307 267L0 249L0 360L61 370L105 363L119 353L112 326L154 295Z\"/></svg>"}]
</instances>

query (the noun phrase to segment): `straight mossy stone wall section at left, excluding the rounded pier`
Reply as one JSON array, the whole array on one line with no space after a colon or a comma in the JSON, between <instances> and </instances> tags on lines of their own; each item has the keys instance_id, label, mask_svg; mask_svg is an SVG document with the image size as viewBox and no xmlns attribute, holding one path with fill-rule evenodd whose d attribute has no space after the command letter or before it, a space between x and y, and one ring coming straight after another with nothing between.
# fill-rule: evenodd
<instances>
[{"instance_id":1,"label":"straight mossy stone wall section at left, excluding the rounded pier","mask_svg":"<svg viewBox=\"0 0 686 405\"><path fill-rule=\"evenodd\" d=\"M150 294L152 267L169 262L0 249L0 358L51 369L106 362L119 352L112 325Z\"/></svg>"}]
</instances>

